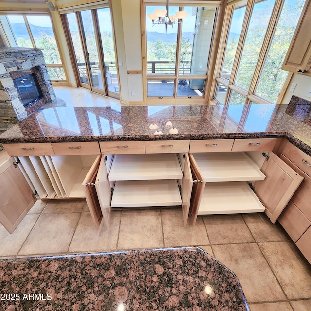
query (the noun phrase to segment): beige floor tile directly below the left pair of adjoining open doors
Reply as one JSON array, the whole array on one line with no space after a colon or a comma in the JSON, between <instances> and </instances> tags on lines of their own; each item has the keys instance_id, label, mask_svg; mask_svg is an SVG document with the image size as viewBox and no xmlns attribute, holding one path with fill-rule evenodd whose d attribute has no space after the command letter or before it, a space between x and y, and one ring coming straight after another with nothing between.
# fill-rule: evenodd
<instances>
[{"instance_id":1,"label":"beige floor tile directly below the left pair of adjoining open doors","mask_svg":"<svg viewBox=\"0 0 311 311\"><path fill-rule=\"evenodd\" d=\"M106 252L117 249L121 212L113 211L109 228L97 230L90 213L82 213L69 246L69 252Z\"/></svg>"}]
</instances>

